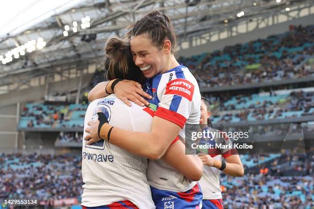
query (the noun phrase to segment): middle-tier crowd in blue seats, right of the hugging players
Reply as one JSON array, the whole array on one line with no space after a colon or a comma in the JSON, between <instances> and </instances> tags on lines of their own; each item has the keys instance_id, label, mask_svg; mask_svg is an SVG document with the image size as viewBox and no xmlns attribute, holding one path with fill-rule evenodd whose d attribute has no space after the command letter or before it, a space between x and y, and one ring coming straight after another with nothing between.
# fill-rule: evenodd
<instances>
[{"instance_id":1,"label":"middle-tier crowd in blue seats, right of the hugging players","mask_svg":"<svg viewBox=\"0 0 314 209\"><path fill-rule=\"evenodd\" d=\"M276 94L272 96L276 96ZM271 96L268 98L271 99ZM225 99L225 101L216 103L220 110L212 116L215 123L236 122L234 119L237 119L237 121L252 121L314 115L314 111L311 110L314 108L313 91L292 91L289 95L278 99L276 102L265 99L262 102L256 101L252 103L251 101L254 100L252 100L251 95L238 95L235 99L235 103L230 103L231 99ZM245 105L248 102L250 102L248 107L242 106L242 108L237 108L242 103ZM231 112L232 110L237 111Z\"/></svg>"}]
</instances>

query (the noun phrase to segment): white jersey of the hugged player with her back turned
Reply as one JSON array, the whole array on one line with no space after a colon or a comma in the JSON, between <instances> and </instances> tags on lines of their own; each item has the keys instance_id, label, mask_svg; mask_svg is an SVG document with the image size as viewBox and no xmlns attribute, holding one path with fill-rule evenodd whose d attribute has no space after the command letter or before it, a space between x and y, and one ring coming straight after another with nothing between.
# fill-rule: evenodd
<instances>
[{"instance_id":1,"label":"white jersey of the hugged player with her back turned","mask_svg":"<svg viewBox=\"0 0 314 209\"><path fill-rule=\"evenodd\" d=\"M84 129L88 127L87 122L96 118L99 109L112 126L130 131L150 131L153 111L134 103L128 107L114 94L89 104ZM129 200L141 209L155 208L146 177L146 158L124 151L106 140L91 145L86 145L83 140L82 155L85 183L82 205L94 207Z\"/></svg>"}]
</instances>

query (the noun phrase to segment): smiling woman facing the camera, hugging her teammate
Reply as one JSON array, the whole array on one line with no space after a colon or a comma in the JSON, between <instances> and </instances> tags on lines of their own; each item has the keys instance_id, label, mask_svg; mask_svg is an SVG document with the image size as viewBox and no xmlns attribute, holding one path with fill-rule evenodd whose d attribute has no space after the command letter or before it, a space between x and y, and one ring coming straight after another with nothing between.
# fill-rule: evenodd
<instances>
[{"instance_id":1,"label":"smiling woman facing the camera, hugging her teammate","mask_svg":"<svg viewBox=\"0 0 314 209\"><path fill-rule=\"evenodd\" d=\"M85 140L89 140L89 144L106 139L133 154L154 159L149 162L147 178L157 208L198 208L202 204L199 184L159 160L178 135L185 141L185 124L199 124L201 94L198 83L188 68L174 57L176 38L167 15L150 12L138 20L127 35L134 64L147 78L144 90L152 96L148 100L150 107L156 108L151 130L148 133L128 131L112 126L105 119L93 120L89 122L91 128L85 130L89 133ZM118 90L119 87L114 88L117 82L123 81L114 80L108 86ZM97 92L104 96L104 89ZM112 92L109 87L106 89L108 93ZM191 172L201 174L200 169Z\"/></svg>"}]
</instances>

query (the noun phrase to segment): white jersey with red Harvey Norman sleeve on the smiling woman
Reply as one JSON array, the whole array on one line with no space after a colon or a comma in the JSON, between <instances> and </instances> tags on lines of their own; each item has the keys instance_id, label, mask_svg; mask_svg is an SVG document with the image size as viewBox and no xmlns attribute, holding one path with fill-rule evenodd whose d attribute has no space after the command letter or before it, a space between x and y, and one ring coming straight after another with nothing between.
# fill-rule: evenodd
<instances>
[{"instance_id":1,"label":"white jersey with red Harvey Norman sleeve on the smiling woman","mask_svg":"<svg viewBox=\"0 0 314 209\"><path fill-rule=\"evenodd\" d=\"M188 68L178 66L149 79L145 88L153 96L148 101L158 106L155 116L178 124L182 128L179 138L185 142L185 124L200 122L201 94L197 80ZM149 160L147 179L156 189L172 192L186 192L197 183L162 160Z\"/></svg>"}]
</instances>

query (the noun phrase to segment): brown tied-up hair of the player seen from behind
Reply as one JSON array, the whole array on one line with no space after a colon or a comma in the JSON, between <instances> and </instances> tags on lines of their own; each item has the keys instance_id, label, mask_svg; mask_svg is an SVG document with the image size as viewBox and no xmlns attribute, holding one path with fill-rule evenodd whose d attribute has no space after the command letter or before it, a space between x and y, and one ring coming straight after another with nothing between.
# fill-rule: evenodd
<instances>
[{"instance_id":1,"label":"brown tied-up hair of the player seen from behind","mask_svg":"<svg viewBox=\"0 0 314 209\"><path fill-rule=\"evenodd\" d=\"M140 68L133 62L130 43L120 37L111 37L105 46L105 71L109 80L115 78L144 81Z\"/></svg>"}]
</instances>

